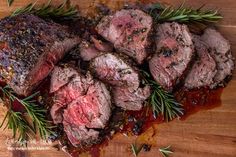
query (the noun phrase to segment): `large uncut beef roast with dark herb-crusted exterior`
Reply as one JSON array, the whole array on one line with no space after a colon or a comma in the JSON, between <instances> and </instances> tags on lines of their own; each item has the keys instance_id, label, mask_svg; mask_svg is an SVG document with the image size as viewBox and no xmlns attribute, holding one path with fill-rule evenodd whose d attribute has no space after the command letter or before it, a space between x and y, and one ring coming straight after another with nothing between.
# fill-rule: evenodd
<instances>
[{"instance_id":1,"label":"large uncut beef roast with dark herb-crusted exterior","mask_svg":"<svg viewBox=\"0 0 236 157\"><path fill-rule=\"evenodd\" d=\"M0 75L27 96L79 38L56 23L21 14L0 21Z\"/></svg>"}]
</instances>

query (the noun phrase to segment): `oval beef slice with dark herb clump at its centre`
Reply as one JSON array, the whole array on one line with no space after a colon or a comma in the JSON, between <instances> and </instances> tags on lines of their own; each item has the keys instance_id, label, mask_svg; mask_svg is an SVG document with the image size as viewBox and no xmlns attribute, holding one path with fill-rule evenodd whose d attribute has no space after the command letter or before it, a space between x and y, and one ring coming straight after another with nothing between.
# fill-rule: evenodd
<instances>
[{"instance_id":1,"label":"oval beef slice with dark herb clump at its centre","mask_svg":"<svg viewBox=\"0 0 236 157\"><path fill-rule=\"evenodd\" d=\"M156 54L149 61L153 78L172 91L183 78L194 56L192 36L186 25L160 24L156 34Z\"/></svg>"}]
</instances>

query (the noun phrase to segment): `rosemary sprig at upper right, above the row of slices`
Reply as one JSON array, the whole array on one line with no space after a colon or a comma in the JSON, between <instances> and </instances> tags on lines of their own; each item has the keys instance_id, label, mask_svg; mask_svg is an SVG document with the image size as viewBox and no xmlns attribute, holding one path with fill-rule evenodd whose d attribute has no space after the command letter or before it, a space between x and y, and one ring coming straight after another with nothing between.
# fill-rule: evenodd
<instances>
[{"instance_id":1,"label":"rosemary sprig at upper right, above the row of slices","mask_svg":"<svg viewBox=\"0 0 236 157\"><path fill-rule=\"evenodd\" d=\"M178 8L174 8L157 3L150 8L149 14L156 22L213 23L223 18L218 10L204 11L203 7L204 5L198 9L186 8L182 3Z\"/></svg>"}]
</instances>

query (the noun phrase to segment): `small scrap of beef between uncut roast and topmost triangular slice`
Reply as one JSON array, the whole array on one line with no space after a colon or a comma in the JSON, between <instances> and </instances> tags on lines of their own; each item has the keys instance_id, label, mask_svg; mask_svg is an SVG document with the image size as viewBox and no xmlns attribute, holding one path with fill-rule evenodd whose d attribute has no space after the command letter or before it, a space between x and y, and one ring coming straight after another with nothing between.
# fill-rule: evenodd
<instances>
[{"instance_id":1,"label":"small scrap of beef between uncut roast and topmost triangular slice","mask_svg":"<svg viewBox=\"0 0 236 157\"><path fill-rule=\"evenodd\" d=\"M80 56L84 61L90 61L103 52L110 52L113 50L113 46L108 42L103 42L95 37L91 37L91 40L93 43L84 40L79 46Z\"/></svg>"}]
</instances>

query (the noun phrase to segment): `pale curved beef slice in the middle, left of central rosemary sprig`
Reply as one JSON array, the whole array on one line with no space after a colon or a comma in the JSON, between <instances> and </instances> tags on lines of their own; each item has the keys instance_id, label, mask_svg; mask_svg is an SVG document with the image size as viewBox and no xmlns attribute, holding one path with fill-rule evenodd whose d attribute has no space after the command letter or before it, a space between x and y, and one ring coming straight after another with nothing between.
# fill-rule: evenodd
<instances>
[{"instance_id":1,"label":"pale curved beef slice in the middle, left of central rosemary sprig","mask_svg":"<svg viewBox=\"0 0 236 157\"><path fill-rule=\"evenodd\" d=\"M150 95L150 88L140 88L139 74L120 57L107 53L93 59L90 69L96 77L111 85L117 106L140 110Z\"/></svg>"}]
</instances>

